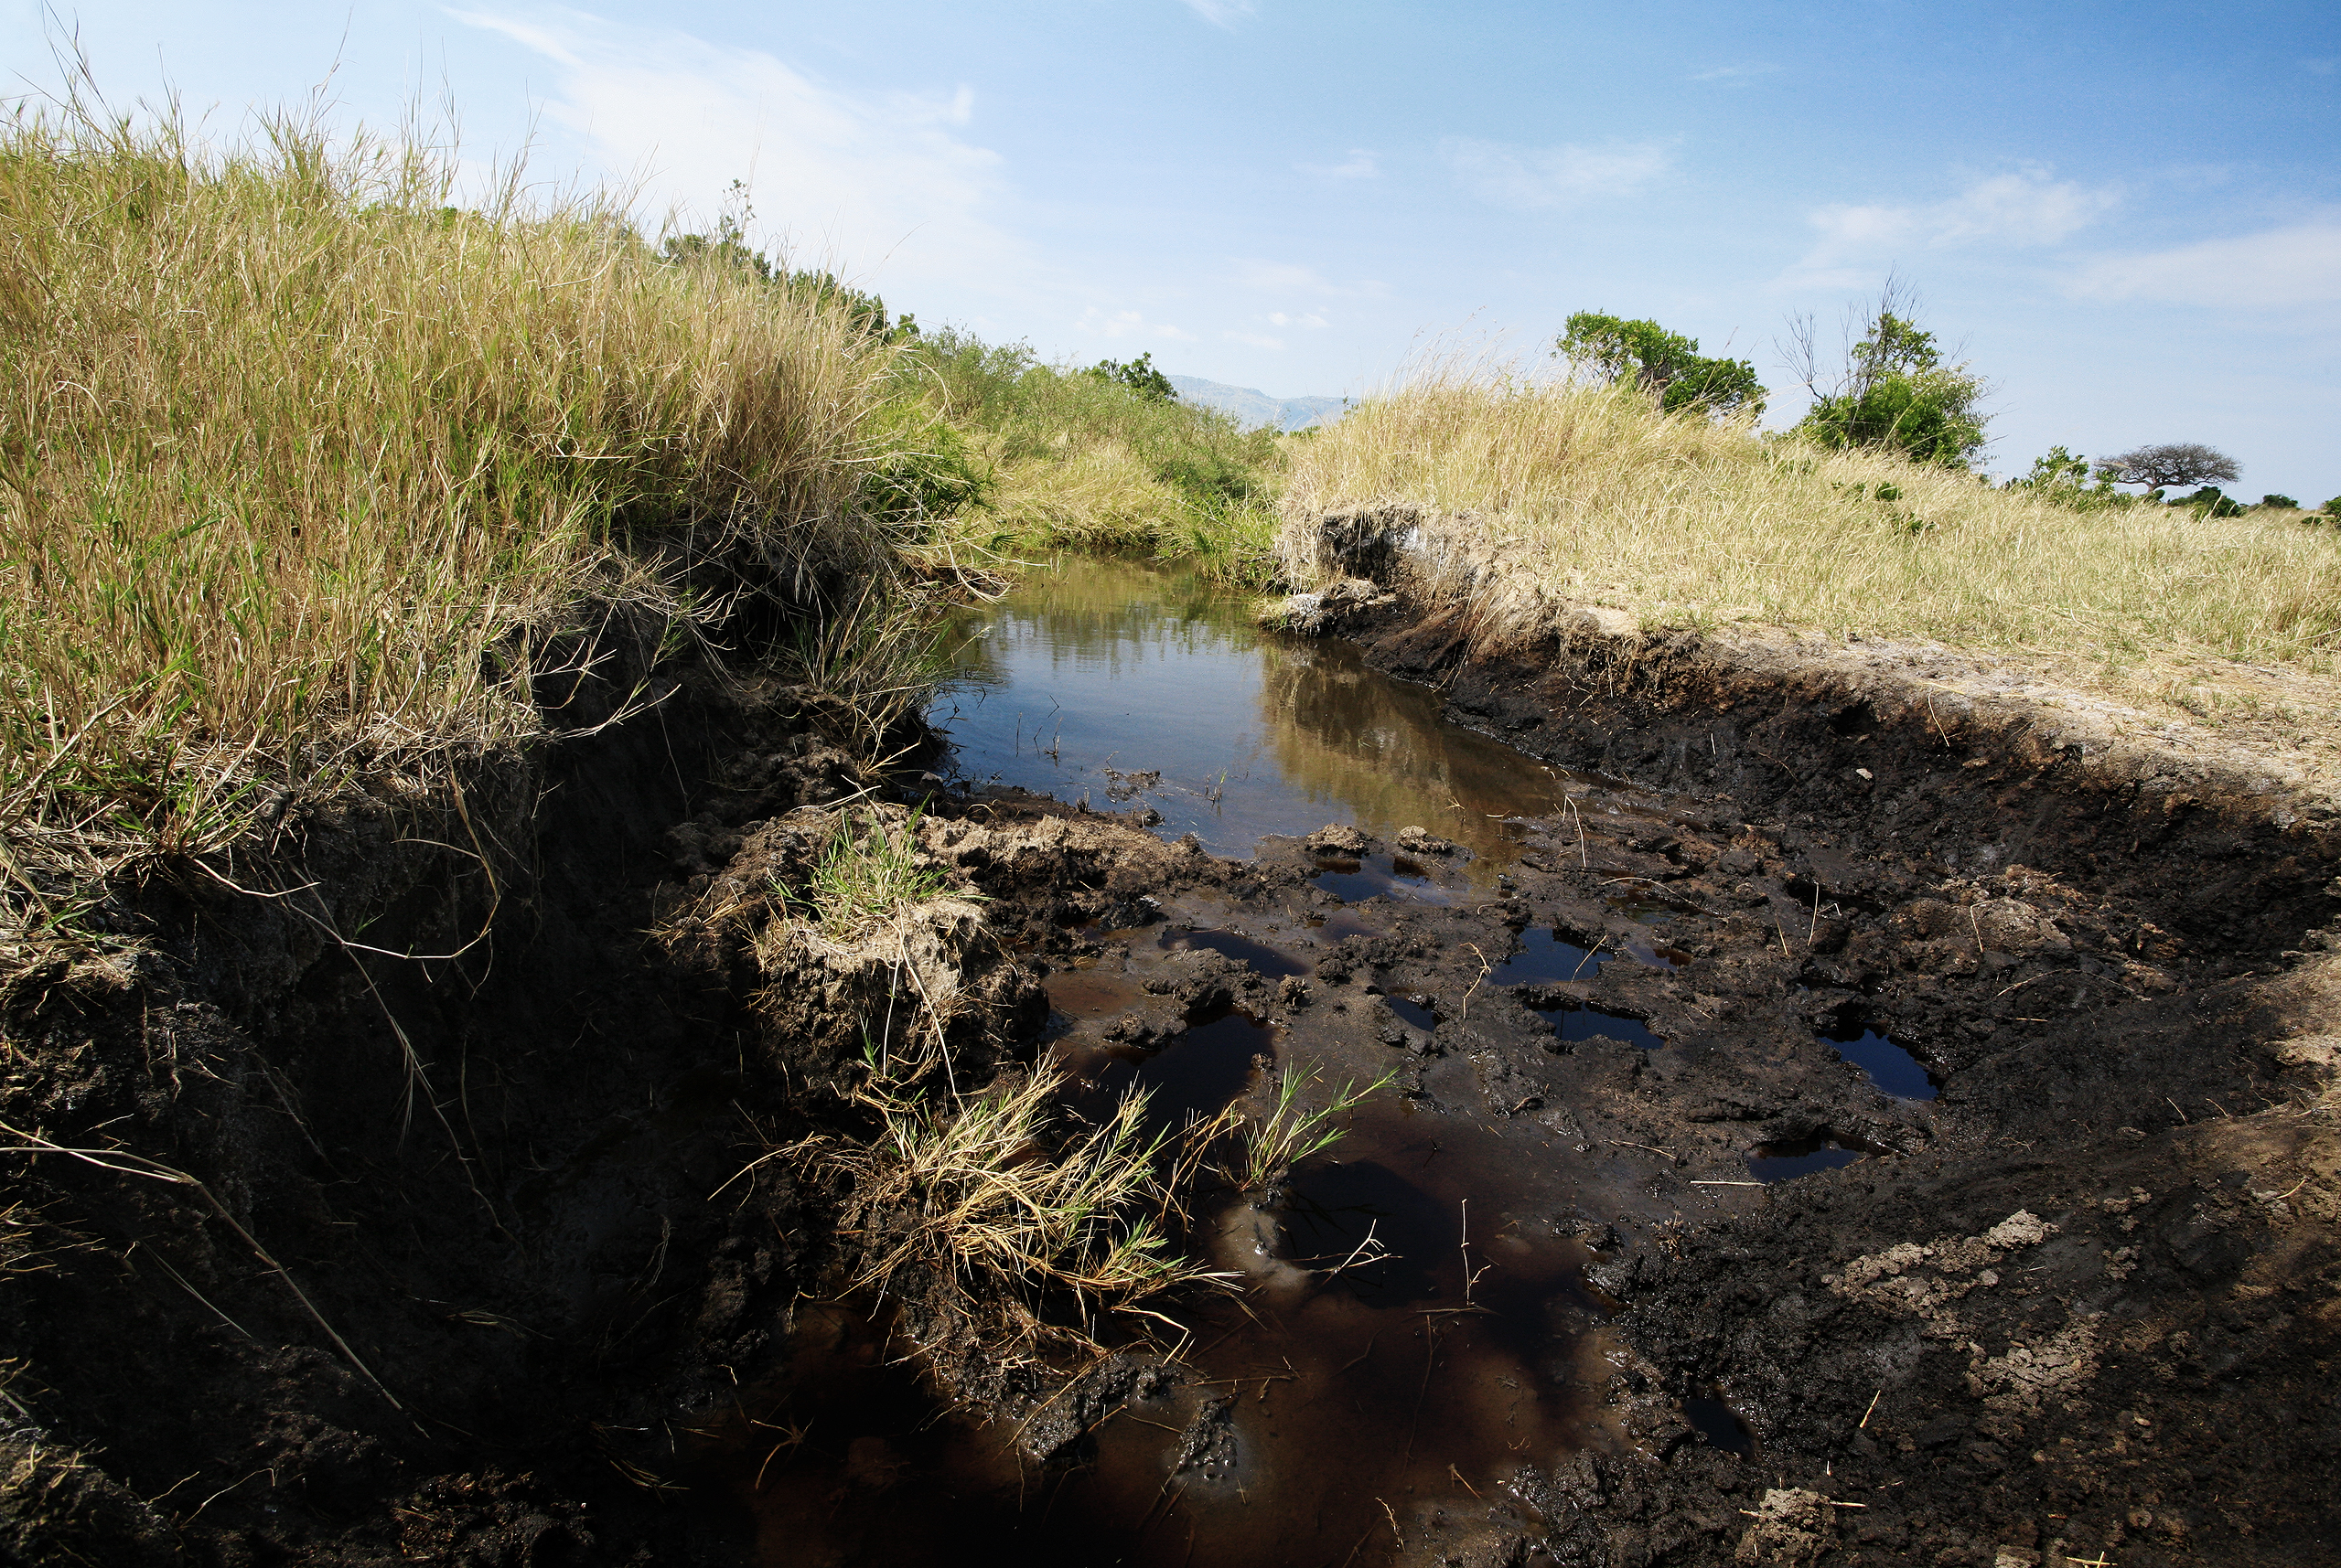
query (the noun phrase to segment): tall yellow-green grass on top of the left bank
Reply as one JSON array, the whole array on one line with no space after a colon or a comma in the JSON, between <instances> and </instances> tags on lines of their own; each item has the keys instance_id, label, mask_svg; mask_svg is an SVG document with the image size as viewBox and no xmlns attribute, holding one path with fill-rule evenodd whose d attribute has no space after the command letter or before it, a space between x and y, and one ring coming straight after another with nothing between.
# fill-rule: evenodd
<instances>
[{"instance_id":1,"label":"tall yellow-green grass on top of the left bank","mask_svg":"<svg viewBox=\"0 0 2341 1568\"><path fill-rule=\"evenodd\" d=\"M543 634L873 566L883 353L597 197L297 117L0 122L0 878L19 931L253 779L534 733Z\"/></svg>"}]
</instances>

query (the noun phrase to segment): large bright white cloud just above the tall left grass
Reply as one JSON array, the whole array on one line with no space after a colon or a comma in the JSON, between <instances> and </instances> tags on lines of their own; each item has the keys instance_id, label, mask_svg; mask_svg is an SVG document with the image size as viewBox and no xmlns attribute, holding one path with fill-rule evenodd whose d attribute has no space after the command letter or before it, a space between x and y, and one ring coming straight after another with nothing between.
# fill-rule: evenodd
<instances>
[{"instance_id":1,"label":"large bright white cloud just above the tall left grass","mask_svg":"<svg viewBox=\"0 0 2341 1568\"><path fill-rule=\"evenodd\" d=\"M452 12L557 68L545 119L639 185L658 222L712 220L730 180L749 183L758 225L803 262L892 278L1028 262L988 208L1000 157L960 129L974 89L950 96L854 94L784 61L716 49L686 33L609 23L583 12Z\"/></svg>"}]
</instances>

